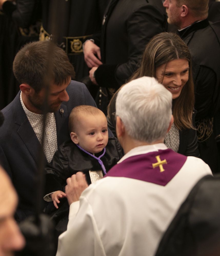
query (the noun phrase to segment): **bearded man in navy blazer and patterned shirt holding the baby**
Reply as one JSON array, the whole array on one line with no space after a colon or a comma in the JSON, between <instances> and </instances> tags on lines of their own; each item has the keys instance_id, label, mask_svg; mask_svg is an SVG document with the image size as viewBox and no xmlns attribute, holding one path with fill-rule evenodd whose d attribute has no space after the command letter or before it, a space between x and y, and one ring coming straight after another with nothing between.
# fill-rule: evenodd
<instances>
[{"instance_id":1,"label":"bearded man in navy blazer and patterned shirt holding the baby","mask_svg":"<svg viewBox=\"0 0 220 256\"><path fill-rule=\"evenodd\" d=\"M21 91L2 110L5 122L0 129L0 162L17 190L19 204L15 218L21 221L35 209L33 198L37 196L45 95L48 94L45 164L69 137L71 110L82 104L95 106L95 102L83 83L71 80L75 76L73 66L66 53L50 41L25 45L14 59L13 71Z\"/></svg>"}]
</instances>

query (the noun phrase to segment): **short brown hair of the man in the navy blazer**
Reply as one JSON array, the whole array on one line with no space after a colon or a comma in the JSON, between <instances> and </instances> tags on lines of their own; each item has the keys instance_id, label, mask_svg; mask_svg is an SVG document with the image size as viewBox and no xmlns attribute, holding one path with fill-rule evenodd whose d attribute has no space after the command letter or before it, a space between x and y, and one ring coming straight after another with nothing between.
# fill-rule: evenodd
<instances>
[{"instance_id":1,"label":"short brown hair of the man in the navy blazer","mask_svg":"<svg viewBox=\"0 0 220 256\"><path fill-rule=\"evenodd\" d=\"M20 84L26 83L39 92L45 79L61 86L75 78L75 71L66 52L51 41L26 44L15 56L13 72Z\"/></svg>"}]
</instances>

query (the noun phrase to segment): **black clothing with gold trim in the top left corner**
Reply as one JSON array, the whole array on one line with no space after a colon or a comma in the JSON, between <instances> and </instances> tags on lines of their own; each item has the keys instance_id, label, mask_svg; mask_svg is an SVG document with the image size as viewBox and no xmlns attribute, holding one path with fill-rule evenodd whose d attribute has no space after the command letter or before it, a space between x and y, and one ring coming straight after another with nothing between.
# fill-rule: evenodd
<instances>
[{"instance_id":1,"label":"black clothing with gold trim in the top left corner","mask_svg":"<svg viewBox=\"0 0 220 256\"><path fill-rule=\"evenodd\" d=\"M19 91L12 66L18 50L39 38L40 0L6 1L0 12L0 109L9 104Z\"/></svg>"}]
</instances>

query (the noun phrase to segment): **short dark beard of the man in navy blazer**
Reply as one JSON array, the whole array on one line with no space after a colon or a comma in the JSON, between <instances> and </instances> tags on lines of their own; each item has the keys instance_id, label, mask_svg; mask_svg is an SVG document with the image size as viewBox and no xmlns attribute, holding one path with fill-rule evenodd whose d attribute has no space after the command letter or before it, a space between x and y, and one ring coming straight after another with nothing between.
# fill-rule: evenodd
<instances>
[{"instance_id":1,"label":"short dark beard of the man in navy blazer","mask_svg":"<svg viewBox=\"0 0 220 256\"><path fill-rule=\"evenodd\" d=\"M60 108L60 105L62 103L61 101L56 101L51 103L50 105L47 104L47 106L45 106L44 98L42 99L41 97L39 97L37 93L35 93L32 97L29 95L28 100L36 109L46 113L56 112Z\"/></svg>"}]
</instances>

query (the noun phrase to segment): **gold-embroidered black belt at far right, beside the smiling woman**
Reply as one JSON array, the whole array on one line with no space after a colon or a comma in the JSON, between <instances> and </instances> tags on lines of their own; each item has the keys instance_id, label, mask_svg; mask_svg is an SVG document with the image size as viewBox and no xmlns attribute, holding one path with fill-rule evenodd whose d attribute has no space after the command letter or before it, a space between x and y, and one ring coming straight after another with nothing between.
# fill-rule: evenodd
<instances>
[{"instance_id":1,"label":"gold-embroidered black belt at far right, beside the smiling woman","mask_svg":"<svg viewBox=\"0 0 220 256\"><path fill-rule=\"evenodd\" d=\"M206 141L213 133L213 118L199 119L196 121L198 142Z\"/></svg>"}]
</instances>

